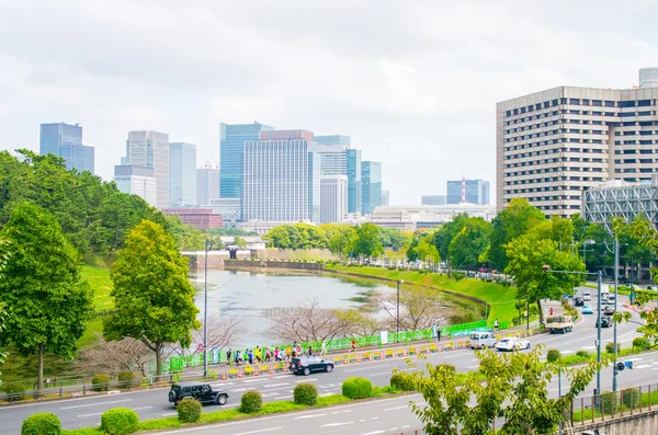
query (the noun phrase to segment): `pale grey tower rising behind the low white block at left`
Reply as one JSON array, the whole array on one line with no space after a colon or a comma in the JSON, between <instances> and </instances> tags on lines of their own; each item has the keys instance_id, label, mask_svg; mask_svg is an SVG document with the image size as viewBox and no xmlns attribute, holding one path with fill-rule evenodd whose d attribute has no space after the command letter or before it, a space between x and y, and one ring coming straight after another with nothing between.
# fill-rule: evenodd
<instances>
[{"instance_id":1,"label":"pale grey tower rising behind the low white block at left","mask_svg":"<svg viewBox=\"0 0 658 435\"><path fill-rule=\"evenodd\" d=\"M158 184L156 207L169 208L169 135L151 130L128 131L125 163L154 169Z\"/></svg>"}]
</instances>

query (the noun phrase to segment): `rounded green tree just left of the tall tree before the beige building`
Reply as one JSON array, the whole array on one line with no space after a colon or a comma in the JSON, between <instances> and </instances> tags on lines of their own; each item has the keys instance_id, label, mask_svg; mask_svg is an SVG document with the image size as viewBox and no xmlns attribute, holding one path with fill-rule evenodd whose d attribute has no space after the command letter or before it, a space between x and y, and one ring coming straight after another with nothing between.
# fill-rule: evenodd
<instances>
[{"instance_id":1,"label":"rounded green tree just left of the tall tree before the beige building","mask_svg":"<svg viewBox=\"0 0 658 435\"><path fill-rule=\"evenodd\" d=\"M491 224L479 217L468 218L450 243L451 264L460 268L476 266L489 247L490 237Z\"/></svg>"}]
</instances>

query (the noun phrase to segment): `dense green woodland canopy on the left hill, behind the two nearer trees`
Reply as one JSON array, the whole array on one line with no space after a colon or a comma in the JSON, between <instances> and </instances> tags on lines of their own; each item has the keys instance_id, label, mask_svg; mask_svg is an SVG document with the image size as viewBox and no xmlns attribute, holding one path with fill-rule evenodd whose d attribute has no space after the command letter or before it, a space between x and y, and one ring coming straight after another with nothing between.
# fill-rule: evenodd
<instances>
[{"instance_id":1,"label":"dense green woodland canopy on the left hill, behind the two nearer trees","mask_svg":"<svg viewBox=\"0 0 658 435\"><path fill-rule=\"evenodd\" d=\"M107 254L123 248L127 232L141 219L163 225L181 249L197 249L200 231L175 216L164 217L137 195L121 193L114 182L89 172L67 171L64 159L19 150L0 151L0 226L22 202L55 215L64 234L82 255Z\"/></svg>"}]
</instances>

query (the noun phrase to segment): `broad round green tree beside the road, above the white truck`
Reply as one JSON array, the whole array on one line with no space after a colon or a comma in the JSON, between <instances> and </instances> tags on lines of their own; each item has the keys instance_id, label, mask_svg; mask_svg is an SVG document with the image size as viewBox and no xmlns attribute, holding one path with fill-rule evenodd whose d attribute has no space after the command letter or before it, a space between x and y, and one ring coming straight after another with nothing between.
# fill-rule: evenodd
<instances>
[{"instance_id":1,"label":"broad round green tree beside the road, above the white truck","mask_svg":"<svg viewBox=\"0 0 658 435\"><path fill-rule=\"evenodd\" d=\"M519 294L530 304L535 302L543 323L541 299L559 300L565 293L585 282L585 275L551 271L585 272L585 264L577 255L559 251L556 241L536 239L525 234L507 245L508 266L504 272L514 277ZM544 266L551 271L545 271Z\"/></svg>"}]
</instances>

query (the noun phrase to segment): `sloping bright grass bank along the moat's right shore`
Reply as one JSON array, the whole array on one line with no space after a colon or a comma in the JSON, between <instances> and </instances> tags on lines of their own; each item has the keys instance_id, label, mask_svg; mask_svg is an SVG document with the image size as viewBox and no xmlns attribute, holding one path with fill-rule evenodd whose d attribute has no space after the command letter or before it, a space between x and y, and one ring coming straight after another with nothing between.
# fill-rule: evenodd
<instances>
[{"instance_id":1,"label":"sloping bright grass bank along the moat's right shore","mask_svg":"<svg viewBox=\"0 0 658 435\"><path fill-rule=\"evenodd\" d=\"M456 281L447 275L436 273L426 274L413 271L392 271L385 267L327 264L326 270L329 272L371 276L393 282L404 279L406 283L418 284L439 290L447 290L458 295L481 299L489 305L487 323L490 327L494 325L496 319L498 319L499 322L508 320L511 324L512 319L517 316L517 309L514 308L517 288L514 287L504 287L500 284L487 283L476 278L463 278Z\"/></svg>"}]
</instances>

